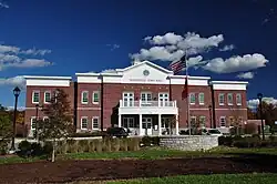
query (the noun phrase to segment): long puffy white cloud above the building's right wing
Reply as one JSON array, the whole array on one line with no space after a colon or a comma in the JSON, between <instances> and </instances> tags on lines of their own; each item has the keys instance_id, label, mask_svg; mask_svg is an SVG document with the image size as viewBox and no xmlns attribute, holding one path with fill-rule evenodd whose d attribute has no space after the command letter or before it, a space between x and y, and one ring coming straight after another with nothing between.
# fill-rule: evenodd
<instances>
[{"instance_id":1,"label":"long puffy white cloud above the building's right wing","mask_svg":"<svg viewBox=\"0 0 277 184\"><path fill-rule=\"evenodd\" d=\"M260 53L245 54L244 57L232 57L229 59L216 58L209 60L203 69L216 73L232 73L249 71L266 67L268 60Z\"/></svg>"}]
</instances>

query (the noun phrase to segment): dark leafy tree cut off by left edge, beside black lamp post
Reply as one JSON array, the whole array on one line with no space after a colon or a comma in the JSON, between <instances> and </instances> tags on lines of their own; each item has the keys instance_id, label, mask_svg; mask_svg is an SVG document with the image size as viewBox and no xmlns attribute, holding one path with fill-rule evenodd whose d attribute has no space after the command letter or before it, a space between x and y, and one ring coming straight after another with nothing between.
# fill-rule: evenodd
<instances>
[{"instance_id":1,"label":"dark leafy tree cut off by left edge, beside black lamp post","mask_svg":"<svg viewBox=\"0 0 277 184\"><path fill-rule=\"evenodd\" d=\"M8 114L0 115L0 153L7 152L8 142L12 136L12 124Z\"/></svg>"}]
</instances>

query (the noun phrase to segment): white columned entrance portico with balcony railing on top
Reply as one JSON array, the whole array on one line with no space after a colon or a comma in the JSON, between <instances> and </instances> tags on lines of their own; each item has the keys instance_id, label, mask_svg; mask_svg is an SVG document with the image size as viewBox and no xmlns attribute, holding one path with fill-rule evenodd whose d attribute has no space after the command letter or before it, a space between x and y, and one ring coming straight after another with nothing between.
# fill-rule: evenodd
<instances>
[{"instance_id":1,"label":"white columned entrance portico with balcony railing on top","mask_svg":"<svg viewBox=\"0 0 277 184\"><path fill-rule=\"evenodd\" d=\"M140 101L124 103L120 101L119 126L130 131L131 135L162 135L168 131L178 134L178 109L176 101L158 103L148 101L147 105Z\"/></svg>"}]
</instances>

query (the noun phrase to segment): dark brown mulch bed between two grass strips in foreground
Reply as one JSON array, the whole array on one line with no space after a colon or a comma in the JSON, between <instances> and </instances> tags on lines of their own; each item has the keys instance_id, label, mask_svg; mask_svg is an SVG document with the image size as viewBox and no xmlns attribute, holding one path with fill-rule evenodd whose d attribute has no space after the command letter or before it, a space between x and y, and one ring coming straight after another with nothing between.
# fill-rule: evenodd
<instances>
[{"instance_id":1,"label":"dark brown mulch bed between two grass strips in foreground","mask_svg":"<svg viewBox=\"0 0 277 184\"><path fill-rule=\"evenodd\" d=\"M65 183L184 174L277 173L276 156L83 160L0 165L0 183Z\"/></svg>"}]
</instances>

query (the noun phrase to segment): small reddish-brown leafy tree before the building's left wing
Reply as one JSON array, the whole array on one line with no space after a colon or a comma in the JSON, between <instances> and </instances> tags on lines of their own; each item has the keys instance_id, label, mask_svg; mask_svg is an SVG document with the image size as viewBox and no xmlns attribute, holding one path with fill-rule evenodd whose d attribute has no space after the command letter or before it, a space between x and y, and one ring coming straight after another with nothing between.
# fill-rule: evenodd
<instances>
[{"instance_id":1,"label":"small reddish-brown leafy tree before the building's left wing","mask_svg":"<svg viewBox=\"0 0 277 184\"><path fill-rule=\"evenodd\" d=\"M48 119L37 122L39 139L52 143L52 162L55 160L57 141L66 139L74 131L72 112L68 94L58 89L50 104L43 109Z\"/></svg>"}]
</instances>

